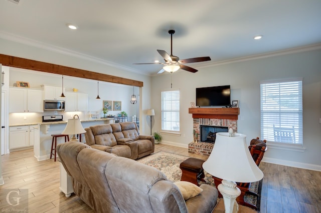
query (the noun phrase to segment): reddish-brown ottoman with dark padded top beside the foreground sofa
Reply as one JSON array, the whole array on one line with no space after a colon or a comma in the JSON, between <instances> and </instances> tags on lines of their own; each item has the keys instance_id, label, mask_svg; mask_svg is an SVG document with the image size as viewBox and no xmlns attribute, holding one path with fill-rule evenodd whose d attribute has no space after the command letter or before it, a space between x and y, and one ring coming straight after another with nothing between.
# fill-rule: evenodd
<instances>
[{"instance_id":1,"label":"reddish-brown ottoman with dark padded top beside the foreground sofa","mask_svg":"<svg viewBox=\"0 0 321 213\"><path fill-rule=\"evenodd\" d=\"M203 170L203 163L205 161L202 159L197 159L190 157L180 164L180 168L182 169L182 178L181 181L189 181L196 185L198 184L197 180L204 180L204 170Z\"/></svg>"}]
</instances>

